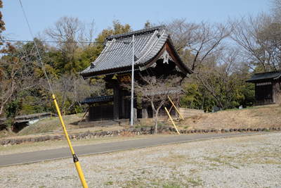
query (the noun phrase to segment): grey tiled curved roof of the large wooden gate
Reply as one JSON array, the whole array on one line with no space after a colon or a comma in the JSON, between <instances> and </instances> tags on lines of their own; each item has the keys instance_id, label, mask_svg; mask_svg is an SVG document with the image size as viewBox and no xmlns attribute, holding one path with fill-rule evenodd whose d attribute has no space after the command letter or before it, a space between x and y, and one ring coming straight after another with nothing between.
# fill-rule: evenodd
<instances>
[{"instance_id":1,"label":"grey tiled curved roof of the large wooden gate","mask_svg":"<svg viewBox=\"0 0 281 188\"><path fill-rule=\"evenodd\" d=\"M105 49L96 61L81 72L81 75L86 78L95 75L130 72L132 62L130 42L133 35L135 36L136 70L138 70L138 65L145 65L154 58L169 39L164 26L107 37Z\"/></svg>"}]
</instances>

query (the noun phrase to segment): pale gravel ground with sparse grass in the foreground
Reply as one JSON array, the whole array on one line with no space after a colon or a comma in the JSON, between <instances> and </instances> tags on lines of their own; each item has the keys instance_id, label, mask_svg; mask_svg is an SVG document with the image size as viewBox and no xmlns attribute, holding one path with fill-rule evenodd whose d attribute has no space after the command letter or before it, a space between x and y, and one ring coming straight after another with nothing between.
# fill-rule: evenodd
<instances>
[{"instance_id":1,"label":"pale gravel ground with sparse grass in the foreground","mask_svg":"<svg viewBox=\"0 0 281 188\"><path fill-rule=\"evenodd\" d=\"M80 157L89 187L281 187L281 133ZM81 187L72 158L0 168L0 187Z\"/></svg>"}]
</instances>

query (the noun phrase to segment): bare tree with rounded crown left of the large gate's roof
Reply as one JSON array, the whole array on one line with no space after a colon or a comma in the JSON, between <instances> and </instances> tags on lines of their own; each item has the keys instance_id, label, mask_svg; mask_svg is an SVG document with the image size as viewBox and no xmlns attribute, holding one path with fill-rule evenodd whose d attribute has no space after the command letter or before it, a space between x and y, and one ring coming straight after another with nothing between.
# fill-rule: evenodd
<instances>
[{"instance_id":1,"label":"bare tree with rounded crown left of the large gate's roof","mask_svg":"<svg viewBox=\"0 0 281 188\"><path fill-rule=\"evenodd\" d=\"M62 72L77 73L81 70L79 53L81 49L94 45L83 43L85 40L89 42L93 40L93 29L94 22L87 27L78 18L63 17L53 27L45 30L47 37L58 41L57 47L61 54L59 64L64 70Z\"/></svg>"}]
</instances>

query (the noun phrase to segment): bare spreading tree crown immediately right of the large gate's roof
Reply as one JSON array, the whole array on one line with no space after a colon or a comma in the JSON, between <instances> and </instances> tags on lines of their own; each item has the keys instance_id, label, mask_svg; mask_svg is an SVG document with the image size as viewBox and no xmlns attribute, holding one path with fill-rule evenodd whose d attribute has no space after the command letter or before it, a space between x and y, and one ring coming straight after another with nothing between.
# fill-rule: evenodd
<instances>
[{"instance_id":1,"label":"bare spreading tree crown immediately right of the large gate's roof","mask_svg":"<svg viewBox=\"0 0 281 188\"><path fill-rule=\"evenodd\" d=\"M209 56L223 48L223 39L230 35L230 27L223 24L187 23L185 19L174 20L168 25L176 50L196 70Z\"/></svg>"}]
</instances>

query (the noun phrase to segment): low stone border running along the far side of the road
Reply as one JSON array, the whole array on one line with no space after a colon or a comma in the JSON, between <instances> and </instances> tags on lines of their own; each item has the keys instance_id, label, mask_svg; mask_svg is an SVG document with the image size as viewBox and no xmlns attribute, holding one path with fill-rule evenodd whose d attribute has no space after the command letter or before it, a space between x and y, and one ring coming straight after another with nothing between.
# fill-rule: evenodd
<instances>
[{"instance_id":1,"label":"low stone border running along the far side of the road","mask_svg":"<svg viewBox=\"0 0 281 188\"><path fill-rule=\"evenodd\" d=\"M70 134L70 139L90 139L96 137L115 137L119 135L141 135L141 134L153 134L154 127L141 127L141 128L129 128L124 130L113 131L101 131L101 132L83 132ZM233 129L211 129L211 130L179 130L181 134L193 134L193 133L225 133L225 132L261 132L261 131L280 131L281 127L270 128L233 128ZM176 129L174 127L162 126L158 128L159 133L174 133ZM44 142L48 140L61 140L65 139L65 135L42 135L39 137L26 137L16 139L0 139L0 145L14 145L22 144L25 142Z\"/></svg>"}]
</instances>

